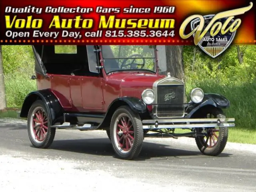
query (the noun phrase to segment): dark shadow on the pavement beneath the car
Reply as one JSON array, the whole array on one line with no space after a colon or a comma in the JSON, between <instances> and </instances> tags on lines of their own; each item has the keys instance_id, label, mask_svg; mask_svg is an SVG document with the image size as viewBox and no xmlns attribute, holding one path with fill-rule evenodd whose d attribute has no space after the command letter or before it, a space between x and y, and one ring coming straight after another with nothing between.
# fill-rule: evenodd
<instances>
[{"instance_id":1,"label":"dark shadow on the pavement beneath the car","mask_svg":"<svg viewBox=\"0 0 256 192\"><path fill-rule=\"evenodd\" d=\"M108 138L55 140L50 148L52 150L62 150L99 156L113 156L116 158L112 144ZM222 153L218 157L228 156L230 156L230 154ZM199 150L184 150L172 148L170 145L144 142L140 155L134 160L170 160L187 158L212 158L212 156L204 156Z\"/></svg>"}]
</instances>

